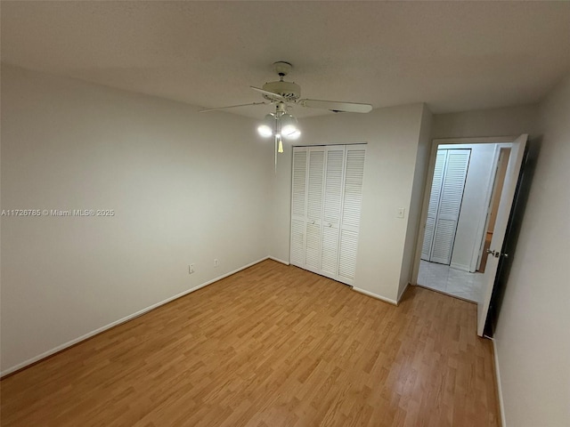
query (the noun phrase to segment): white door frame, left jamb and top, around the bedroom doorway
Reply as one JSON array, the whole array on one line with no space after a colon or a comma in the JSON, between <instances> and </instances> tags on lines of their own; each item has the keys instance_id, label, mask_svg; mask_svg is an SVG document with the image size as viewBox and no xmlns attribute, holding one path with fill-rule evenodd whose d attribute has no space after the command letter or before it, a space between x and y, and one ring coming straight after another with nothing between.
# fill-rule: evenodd
<instances>
[{"instance_id":1,"label":"white door frame, left jamb and top, around the bedroom doorway","mask_svg":"<svg viewBox=\"0 0 570 427\"><path fill-rule=\"evenodd\" d=\"M437 149L440 145L458 145L458 144L509 144L517 140L520 135L515 136L483 136L468 138L436 138L431 141L431 153L429 156L428 176L426 177L426 185L424 187L423 203L421 205L421 215L419 219L419 230L416 244L416 253L414 255L413 270L411 272L411 285L418 285L419 262L421 260L421 249L426 234L426 220L428 219L429 195L431 193L431 184L434 179L434 170L436 168Z\"/></svg>"}]
</instances>

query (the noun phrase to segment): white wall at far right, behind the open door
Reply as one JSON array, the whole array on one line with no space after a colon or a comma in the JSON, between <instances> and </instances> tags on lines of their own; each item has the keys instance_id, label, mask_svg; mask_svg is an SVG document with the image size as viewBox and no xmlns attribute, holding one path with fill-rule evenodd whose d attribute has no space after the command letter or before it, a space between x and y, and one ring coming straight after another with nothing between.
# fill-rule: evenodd
<instances>
[{"instance_id":1,"label":"white wall at far right, behind the open door","mask_svg":"<svg viewBox=\"0 0 570 427\"><path fill-rule=\"evenodd\" d=\"M542 148L495 334L509 427L570 422L570 76L540 117Z\"/></svg>"}]
</instances>

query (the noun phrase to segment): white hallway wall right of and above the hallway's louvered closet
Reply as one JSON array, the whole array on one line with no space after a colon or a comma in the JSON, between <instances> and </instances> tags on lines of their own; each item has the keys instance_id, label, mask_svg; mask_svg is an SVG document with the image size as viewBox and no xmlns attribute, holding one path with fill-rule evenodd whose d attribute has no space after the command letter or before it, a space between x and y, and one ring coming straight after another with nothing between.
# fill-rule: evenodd
<instances>
[{"instance_id":1,"label":"white hallway wall right of and above the hallway's louvered closet","mask_svg":"<svg viewBox=\"0 0 570 427\"><path fill-rule=\"evenodd\" d=\"M485 228L485 206L493 180L491 174L496 144L453 144L440 147L471 149L451 263L455 269L469 271L474 253L478 254L481 232Z\"/></svg>"}]
</instances>

